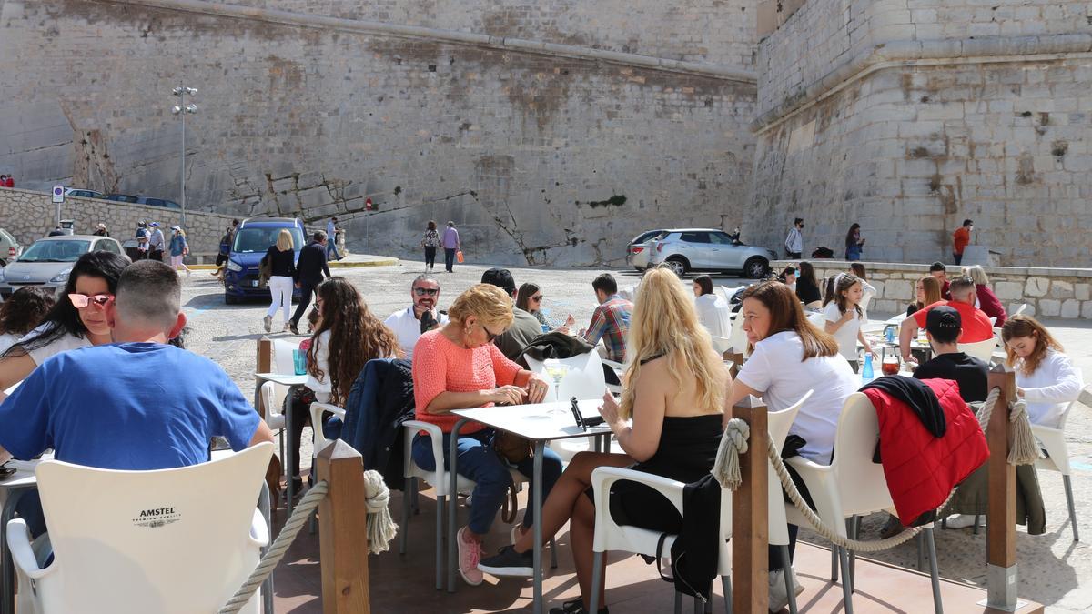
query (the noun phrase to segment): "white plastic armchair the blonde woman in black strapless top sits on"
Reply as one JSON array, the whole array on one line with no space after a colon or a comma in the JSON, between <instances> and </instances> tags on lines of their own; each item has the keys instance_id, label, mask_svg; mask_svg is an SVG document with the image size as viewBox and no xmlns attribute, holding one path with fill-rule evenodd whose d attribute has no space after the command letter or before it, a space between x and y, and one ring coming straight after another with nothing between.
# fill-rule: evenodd
<instances>
[{"instance_id":1,"label":"white plastic armchair the blonde woman in black strapless top sits on","mask_svg":"<svg viewBox=\"0 0 1092 614\"><path fill-rule=\"evenodd\" d=\"M796 414L800 406L811 397L809 390L799 401L788 409L780 412L767 414L767 429L770 438L774 441L778 451L785 442L788 429L796 420ZM773 464L767 463L770 470L770 482L768 488L769 505L769 533L770 543L783 546L783 556L788 560L788 526L785 519L785 506L782 499L781 488L778 487L778 477L773 472ZM603 578L603 557L607 551L622 551L645 556L657 556L670 551L675 543L675 535L664 539L662 552L657 551L660 544L660 533L637 527L620 526L610 516L610 487L618 481L630 481L644 484L654 488L667 498L682 513L682 488L686 484L629 469L613 467L601 467L592 472L592 487L595 493L595 538L592 546L594 552L594 563L592 564L592 599L591 612L596 612L598 603L598 587ZM721 540L717 542L717 575L721 576L721 587L724 590L725 611L732 612L732 551L728 547L728 540L732 539L732 492L721 491ZM790 610L796 612L796 598L793 589L792 575L785 574L785 587L790 595ZM680 612L680 593L676 593L675 611ZM697 606L697 604L696 604Z\"/></svg>"}]
</instances>

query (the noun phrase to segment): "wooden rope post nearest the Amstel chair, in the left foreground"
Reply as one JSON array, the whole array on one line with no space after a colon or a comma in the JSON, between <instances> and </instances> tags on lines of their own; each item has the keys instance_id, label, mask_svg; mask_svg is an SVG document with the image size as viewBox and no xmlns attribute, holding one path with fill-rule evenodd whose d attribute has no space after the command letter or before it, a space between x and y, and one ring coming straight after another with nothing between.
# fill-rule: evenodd
<instances>
[{"instance_id":1,"label":"wooden rope post nearest the Amstel chair, in the left foreground","mask_svg":"<svg viewBox=\"0 0 1092 614\"><path fill-rule=\"evenodd\" d=\"M319 481L329 485L319 504L319 553L323 614L368 614L368 518L364 459L352 446L333 440L316 461Z\"/></svg>"}]
</instances>

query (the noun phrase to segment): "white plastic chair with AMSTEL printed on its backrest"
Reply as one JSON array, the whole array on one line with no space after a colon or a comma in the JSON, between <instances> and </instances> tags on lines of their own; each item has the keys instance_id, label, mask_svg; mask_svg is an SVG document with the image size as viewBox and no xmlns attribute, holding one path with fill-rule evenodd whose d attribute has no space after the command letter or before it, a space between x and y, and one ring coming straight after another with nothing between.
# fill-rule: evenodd
<instances>
[{"instance_id":1,"label":"white plastic chair with AMSTEL printed on its backrest","mask_svg":"<svg viewBox=\"0 0 1092 614\"><path fill-rule=\"evenodd\" d=\"M19 612L216 612L258 565L269 527L254 507L273 444L159 471L44 461L38 492L54 562L38 566L26 522L8 523L25 590ZM33 585L32 585L33 582ZM242 612L257 614L256 593Z\"/></svg>"}]
</instances>

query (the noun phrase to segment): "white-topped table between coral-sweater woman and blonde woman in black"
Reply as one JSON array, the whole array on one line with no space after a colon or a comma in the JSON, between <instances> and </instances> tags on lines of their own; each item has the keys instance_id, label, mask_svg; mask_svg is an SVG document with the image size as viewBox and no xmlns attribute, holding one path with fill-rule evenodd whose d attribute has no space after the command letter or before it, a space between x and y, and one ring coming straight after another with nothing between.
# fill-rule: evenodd
<instances>
[{"instance_id":1,"label":"white-topped table between coral-sweater woman and blonde woman in black","mask_svg":"<svg viewBox=\"0 0 1092 614\"><path fill-rule=\"evenodd\" d=\"M598 399L578 401L580 413L584 418L600 415ZM450 493L454 501L458 491L458 446L453 445L459 438L459 430L468 422L479 422L496 430L505 430L520 437L530 439L534 444L534 475L532 475L533 486L531 488L531 505L534 506L534 613L542 614L543 605L543 452L546 444L554 439L571 439L574 437L597 436L609 440L610 428L606 425L589 427L584 430L577 426L572 416L571 403L568 401L555 401L550 403L537 403L533 405L505 405L492 408L474 408L470 410L454 410L451 413L459 416L459 422L451 429L450 459L448 463L449 477L451 480ZM598 446L597 446L598 447ZM609 449L609 448L603 448ZM455 545L455 508L448 506L448 592L455 591L455 566L458 547Z\"/></svg>"}]
</instances>

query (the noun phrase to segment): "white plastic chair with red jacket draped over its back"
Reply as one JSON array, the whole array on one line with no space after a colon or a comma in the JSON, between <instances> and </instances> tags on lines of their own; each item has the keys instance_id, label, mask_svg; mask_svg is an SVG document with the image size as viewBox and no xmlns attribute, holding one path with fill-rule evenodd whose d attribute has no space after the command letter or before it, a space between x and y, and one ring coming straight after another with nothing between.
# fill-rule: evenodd
<instances>
[{"instance_id":1,"label":"white plastic chair with red jacket draped over its back","mask_svg":"<svg viewBox=\"0 0 1092 614\"><path fill-rule=\"evenodd\" d=\"M799 473L816 504L816 513L823 523L834 529L840 536L847 536L846 520L874 511L894 511L894 503L888 491L883 465L873 462L876 442L879 440L879 420L876 408L863 392L854 392L845 400L834 435L834 454L829 465L811 462L803 457L785 461ZM788 521L797 526L809 526L795 506L785 506ZM934 609L939 614L940 581L937 570L937 552L933 539L933 524L923 530L929 552L929 576L933 581ZM848 554L845 548L838 551L842 567L842 592L845 610L852 614L853 578L850 571Z\"/></svg>"}]
</instances>

